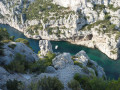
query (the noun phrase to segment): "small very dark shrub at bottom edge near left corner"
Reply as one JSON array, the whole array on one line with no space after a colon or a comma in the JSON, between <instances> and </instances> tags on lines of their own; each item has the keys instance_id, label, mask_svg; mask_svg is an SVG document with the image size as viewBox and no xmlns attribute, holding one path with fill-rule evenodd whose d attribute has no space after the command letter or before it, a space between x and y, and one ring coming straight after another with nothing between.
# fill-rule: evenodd
<instances>
[{"instance_id":1,"label":"small very dark shrub at bottom edge near left corner","mask_svg":"<svg viewBox=\"0 0 120 90\"><path fill-rule=\"evenodd\" d=\"M8 80L6 83L6 87L8 90L22 90L23 89L23 83L21 81L17 80Z\"/></svg>"}]
</instances>

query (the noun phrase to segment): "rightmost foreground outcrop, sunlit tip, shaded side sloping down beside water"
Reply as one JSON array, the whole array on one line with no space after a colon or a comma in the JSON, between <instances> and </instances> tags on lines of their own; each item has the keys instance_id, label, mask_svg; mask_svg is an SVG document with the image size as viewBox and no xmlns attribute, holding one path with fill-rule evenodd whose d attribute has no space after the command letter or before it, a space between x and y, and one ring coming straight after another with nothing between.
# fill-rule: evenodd
<instances>
[{"instance_id":1,"label":"rightmost foreground outcrop, sunlit tip, shaded side sloping down beside water","mask_svg":"<svg viewBox=\"0 0 120 90\"><path fill-rule=\"evenodd\" d=\"M81 63L83 67L88 67L89 70L97 72L98 77L106 77L102 67L100 67L95 61L91 60L85 51L78 52L73 58L75 61Z\"/></svg>"}]
</instances>

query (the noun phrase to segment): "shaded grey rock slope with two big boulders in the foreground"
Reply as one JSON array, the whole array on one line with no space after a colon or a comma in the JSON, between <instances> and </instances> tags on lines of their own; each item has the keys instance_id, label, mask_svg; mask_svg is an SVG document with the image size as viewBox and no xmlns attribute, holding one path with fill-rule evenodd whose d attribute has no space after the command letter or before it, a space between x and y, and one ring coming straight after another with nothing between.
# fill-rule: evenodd
<instances>
[{"instance_id":1,"label":"shaded grey rock slope with two big boulders in the foreground","mask_svg":"<svg viewBox=\"0 0 120 90\"><path fill-rule=\"evenodd\" d=\"M17 79L25 83L25 85L29 85L31 82L37 82L44 76L48 77L57 77L64 85L64 90L68 90L68 82L74 78L76 73L79 73L81 76L91 77L92 75L103 78L105 73L103 68L97 65L94 61L90 60L87 54L84 51L80 51L75 55L74 60L78 61L83 65L80 67L78 65L74 65L73 60L71 59L71 55L69 53L63 53L56 56L53 60L53 66L49 66L46 68L45 73L41 73L39 75L32 74L9 74L6 70L0 67L0 75L6 78L0 79L0 84L3 85L9 79L14 80ZM85 60L84 60L85 59ZM89 64L91 63L91 64ZM90 65L92 65L90 67ZM86 69L85 69L86 68ZM2 70L1 70L2 69ZM87 70L88 72L86 72Z\"/></svg>"}]
</instances>

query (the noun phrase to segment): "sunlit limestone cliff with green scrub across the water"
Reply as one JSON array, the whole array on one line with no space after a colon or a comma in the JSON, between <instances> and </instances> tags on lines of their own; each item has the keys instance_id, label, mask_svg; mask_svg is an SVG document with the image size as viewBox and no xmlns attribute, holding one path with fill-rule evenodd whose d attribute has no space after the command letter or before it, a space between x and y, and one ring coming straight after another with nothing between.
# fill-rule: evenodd
<instances>
[{"instance_id":1,"label":"sunlit limestone cliff with green scrub across the water","mask_svg":"<svg viewBox=\"0 0 120 90\"><path fill-rule=\"evenodd\" d=\"M0 23L29 38L70 41L119 57L119 0L2 0Z\"/></svg>"}]
</instances>

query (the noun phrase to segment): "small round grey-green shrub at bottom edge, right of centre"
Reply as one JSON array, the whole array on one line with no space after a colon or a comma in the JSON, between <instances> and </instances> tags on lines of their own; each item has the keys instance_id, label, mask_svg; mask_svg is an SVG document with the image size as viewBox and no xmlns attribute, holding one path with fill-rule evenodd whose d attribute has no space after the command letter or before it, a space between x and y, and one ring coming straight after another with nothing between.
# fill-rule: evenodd
<instances>
[{"instance_id":1,"label":"small round grey-green shrub at bottom edge, right of centre","mask_svg":"<svg viewBox=\"0 0 120 90\"><path fill-rule=\"evenodd\" d=\"M72 90L81 90L80 84L77 80L71 80L68 83L68 87L71 88Z\"/></svg>"}]
</instances>

